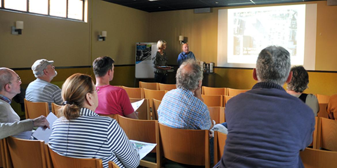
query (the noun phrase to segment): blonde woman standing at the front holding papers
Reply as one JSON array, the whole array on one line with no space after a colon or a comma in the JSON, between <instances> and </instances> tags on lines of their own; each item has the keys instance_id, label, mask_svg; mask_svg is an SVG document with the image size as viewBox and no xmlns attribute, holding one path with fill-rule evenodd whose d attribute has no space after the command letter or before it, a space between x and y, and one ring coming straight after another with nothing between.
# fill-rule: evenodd
<instances>
[{"instance_id":1,"label":"blonde woman standing at the front holding papers","mask_svg":"<svg viewBox=\"0 0 337 168\"><path fill-rule=\"evenodd\" d=\"M166 83L166 73L167 70L171 69L171 67L167 66L167 56L166 52L166 41L158 40L157 42L158 51L153 58L154 68L154 80L158 83Z\"/></svg>"}]
</instances>

